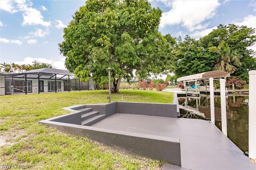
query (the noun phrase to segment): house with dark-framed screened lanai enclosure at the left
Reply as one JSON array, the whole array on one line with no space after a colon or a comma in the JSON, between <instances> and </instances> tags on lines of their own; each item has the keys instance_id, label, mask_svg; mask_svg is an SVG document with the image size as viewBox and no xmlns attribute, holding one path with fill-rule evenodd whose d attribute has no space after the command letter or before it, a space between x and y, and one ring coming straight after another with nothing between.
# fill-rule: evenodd
<instances>
[{"instance_id":1,"label":"house with dark-framed screened lanai enclosure at the left","mask_svg":"<svg viewBox=\"0 0 256 170\"><path fill-rule=\"evenodd\" d=\"M40 68L22 73L0 73L0 95L96 90L92 78L80 81L68 70Z\"/></svg>"}]
</instances>

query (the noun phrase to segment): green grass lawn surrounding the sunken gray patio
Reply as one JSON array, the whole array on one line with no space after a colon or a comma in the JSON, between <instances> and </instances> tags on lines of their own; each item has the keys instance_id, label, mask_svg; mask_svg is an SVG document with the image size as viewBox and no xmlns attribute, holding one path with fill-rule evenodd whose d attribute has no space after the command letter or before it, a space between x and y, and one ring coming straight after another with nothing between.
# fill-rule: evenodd
<instances>
[{"instance_id":1,"label":"green grass lawn surrounding the sunken gray patio","mask_svg":"<svg viewBox=\"0 0 256 170\"><path fill-rule=\"evenodd\" d=\"M112 102L172 103L173 93L120 90ZM69 113L62 107L107 103L107 90L0 96L0 164L32 169L158 169L163 161L126 154L48 127L40 120Z\"/></svg>"}]
</instances>

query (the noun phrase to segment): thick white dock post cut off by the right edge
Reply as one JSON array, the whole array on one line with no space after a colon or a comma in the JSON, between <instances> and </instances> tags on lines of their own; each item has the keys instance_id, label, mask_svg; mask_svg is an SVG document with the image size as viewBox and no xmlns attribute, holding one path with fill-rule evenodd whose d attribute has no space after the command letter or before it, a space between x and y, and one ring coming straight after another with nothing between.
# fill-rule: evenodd
<instances>
[{"instance_id":1,"label":"thick white dock post cut off by the right edge","mask_svg":"<svg viewBox=\"0 0 256 170\"><path fill-rule=\"evenodd\" d=\"M249 71L249 158L256 158L256 70Z\"/></svg>"}]
</instances>

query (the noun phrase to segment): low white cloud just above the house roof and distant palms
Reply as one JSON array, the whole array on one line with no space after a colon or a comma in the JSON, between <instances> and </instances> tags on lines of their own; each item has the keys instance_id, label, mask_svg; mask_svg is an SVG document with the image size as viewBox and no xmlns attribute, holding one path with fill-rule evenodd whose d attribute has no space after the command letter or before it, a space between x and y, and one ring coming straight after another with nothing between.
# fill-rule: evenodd
<instances>
[{"instance_id":1,"label":"low white cloud just above the house roof and distant palms","mask_svg":"<svg viewBox=\"0 0 256 170\"><path fill-rule=\"evenodd\" d=\"M65 63L65 57L59 56L58 61L49 60L46 58L32 58L32 57L26 57L23 61L15 61L16 64L32 64L33 61L38 61L40 63L49 63L52 64L52 66L55 66L58 69L64 69L66 70L64 63Z\"/></svg>"}]
</instances>

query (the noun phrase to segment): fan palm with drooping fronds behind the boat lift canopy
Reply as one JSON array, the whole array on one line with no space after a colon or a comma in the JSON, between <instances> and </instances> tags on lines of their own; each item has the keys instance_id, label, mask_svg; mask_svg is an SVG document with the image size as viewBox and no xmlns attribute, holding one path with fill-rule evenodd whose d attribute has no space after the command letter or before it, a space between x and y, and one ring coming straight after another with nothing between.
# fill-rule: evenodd
<instances>
[{"instance_id":1,"label":"fan palm with drooping fronds behind the boat lift canopy","mask_svg":"<svg viewBox=\"0 0 256 170\"><path fill-rule=\"evenodd\" d=\"M209 51L215 52L218 54L216 64L213 67L213 70L225 71L230 74L234 73L237 68L236 66L241 66L240 55L236 50L231 51L230 47L222 41L218 48L210 47Z\"/></svg>"}]
</instances>

